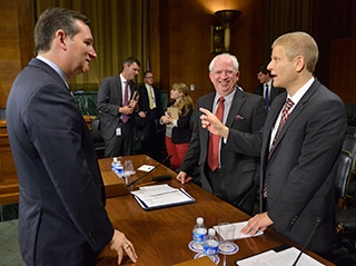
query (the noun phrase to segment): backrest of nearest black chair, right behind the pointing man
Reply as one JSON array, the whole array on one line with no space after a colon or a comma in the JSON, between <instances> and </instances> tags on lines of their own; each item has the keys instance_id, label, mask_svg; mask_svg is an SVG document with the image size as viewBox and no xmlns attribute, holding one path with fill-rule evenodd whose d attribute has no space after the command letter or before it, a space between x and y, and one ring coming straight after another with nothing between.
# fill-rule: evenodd
<instances>
[{"instance_id":1,"label":"backrest of nearest black chair, right behind the pointing man","mask_svg":"<svg viewBox=\"0 0 356 266\"><path fill-rule=\"evenodd\" d=\"M337 176L335 180L335 196L339 208L344 208L344 203L347 197L347 188L352 178L354 168L354 155L348 150L343 149L339 157Z\"/></svg>"}]
</instances>

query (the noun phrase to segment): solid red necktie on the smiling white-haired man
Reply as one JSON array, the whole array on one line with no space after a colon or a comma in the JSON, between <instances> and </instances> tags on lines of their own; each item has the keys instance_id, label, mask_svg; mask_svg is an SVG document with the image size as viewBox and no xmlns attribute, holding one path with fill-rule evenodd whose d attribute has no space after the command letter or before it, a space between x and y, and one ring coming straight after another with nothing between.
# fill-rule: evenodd
<instances>
[{"instance_id":1,"label":"solid red necktie on the smiling white-haired man","mask_svg":"<svg viewBox=\"0 0 356 266\"><path fill-rule=\"evenodd\" d=\"M220 97L219 106L215 114L220 121L222 121L224 101L225 101L225 98ZM215 171L219 167L219 142L220 142L220 136L210 134L209 149L208 149L208 166L210 167L211 171Z\"/></svg>"}]
</instances>

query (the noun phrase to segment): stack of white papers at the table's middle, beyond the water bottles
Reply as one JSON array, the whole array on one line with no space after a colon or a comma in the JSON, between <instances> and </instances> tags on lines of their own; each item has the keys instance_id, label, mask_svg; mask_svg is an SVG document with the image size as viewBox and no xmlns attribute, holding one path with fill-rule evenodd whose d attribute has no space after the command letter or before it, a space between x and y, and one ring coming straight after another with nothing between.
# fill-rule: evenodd
<instances>
[{"instance_id":1,"label":"stack of white papers at the table's middle, beyond the water bottles","mask_svg":"<svg viewBox=\"0 0 356 266\"><path fill-rule=\"evenodd\" d=\"M131 194L146 210L195 203L186 190L172 188L167 184L140 187Z\"/></svg>"}]
</instances>

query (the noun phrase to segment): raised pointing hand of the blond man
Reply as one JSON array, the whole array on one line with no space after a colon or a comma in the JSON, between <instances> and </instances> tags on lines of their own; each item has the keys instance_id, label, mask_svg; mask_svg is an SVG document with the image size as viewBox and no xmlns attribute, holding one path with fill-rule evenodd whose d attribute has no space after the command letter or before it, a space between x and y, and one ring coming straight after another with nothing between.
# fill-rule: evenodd
<instances>
[{"instance_id":1,"label":"raised pointing hand of the blond man","mask_svg":"<svg viewBox=\"0 0 356 266\"><path fill-rule=\"evenodd\" d=\"M211 111L202 107L199 108L204 115L200 116L201 127L208 129L211 134L227 138L229 128L226 127Z\"/></svg>"}]
</instances>

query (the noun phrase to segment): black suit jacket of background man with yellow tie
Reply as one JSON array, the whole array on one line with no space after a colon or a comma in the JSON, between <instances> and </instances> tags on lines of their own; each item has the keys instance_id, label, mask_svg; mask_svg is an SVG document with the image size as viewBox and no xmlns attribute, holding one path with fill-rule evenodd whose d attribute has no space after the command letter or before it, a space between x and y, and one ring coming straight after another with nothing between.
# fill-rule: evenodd
<instances>
[{"instance_id":1,"label":"black suit jacket of background man with yellow tie","mask_svg":"<svg viewBox=\"0 0 356 266\"><path fill-rule=\"evenodd\" d=\"M149 108L149 99L148 99L148 92L145 85L140 86L138 88L139 92L139 100L138 106L140 111L146 112L146 118L140 118L138 128L144 129L147 124L155 122L156 119L159 119L164 115L164 108L160 100L160 93L157 88L152 86L154 92L155 92L155 101L156 101L156 108L151 110Z\"/></svg>"}]
</instances>

